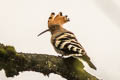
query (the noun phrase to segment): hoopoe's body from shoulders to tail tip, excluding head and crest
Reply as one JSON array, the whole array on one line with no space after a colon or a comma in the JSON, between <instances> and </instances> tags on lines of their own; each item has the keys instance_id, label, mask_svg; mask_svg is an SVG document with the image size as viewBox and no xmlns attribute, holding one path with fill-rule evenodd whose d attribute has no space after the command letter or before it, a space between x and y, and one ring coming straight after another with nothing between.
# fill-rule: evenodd
<instances>
[{"instance_id":1,"label":"hoopoe's body from shoulders to tail tip, excluding head and crest","mask_svg":"<svg viewBox=\"0 0 120 80\"><path fill-rule=\"evenodd\" d=\"M91 68L96 70L96 67L90 61L86 51L72 32L66 29L56 32L56 34L53 34L51 37L51 43L57 53L63 56L72 56L77 59L82 59L87 62Z\"/></svg>"}]
</instances>

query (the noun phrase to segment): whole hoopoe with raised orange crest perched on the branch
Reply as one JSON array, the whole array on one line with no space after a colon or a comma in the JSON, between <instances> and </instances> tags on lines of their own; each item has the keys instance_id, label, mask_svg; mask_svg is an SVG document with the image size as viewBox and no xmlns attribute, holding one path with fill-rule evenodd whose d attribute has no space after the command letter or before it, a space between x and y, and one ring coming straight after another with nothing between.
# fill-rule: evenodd
<instances>
[{"instance_id":1,"label":"whole hoopoe with raised orange crest perched on the branch","mask_svg":"<svg viewBox=\"0 0 120 80\"><path fill-rule=\"evenodd\" d=\"M63 24L69 22L67 16L63 16L62 12L55 16L55 13L51 13L48 19L48 29L38 34L50 31L51 32L51 43L57 53L62 54L62 56L72 56L75 58L80 58L88 63L88 65L96 70L94 64L90 61L86 51L82 45L78 42L75 35L63 28Z\"/></svg>"}]
</instances>

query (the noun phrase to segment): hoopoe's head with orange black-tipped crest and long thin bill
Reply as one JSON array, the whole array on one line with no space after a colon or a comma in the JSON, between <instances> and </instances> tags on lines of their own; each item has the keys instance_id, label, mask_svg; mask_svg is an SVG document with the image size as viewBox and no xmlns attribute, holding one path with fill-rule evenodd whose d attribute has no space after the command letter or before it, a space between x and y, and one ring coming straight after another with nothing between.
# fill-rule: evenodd
<instances>
[{"instance_id":1,"label":"hoopoe's head with orange black-tipped crest and long thin bill","mask_svg":"<svg viewBox=\"0 0 120 80\"><path fill-rule=\"evenodd\" d=\"M48 29L38 34L40 36L41 34L50 31L51 33L54 33L56 30L59 30L62 28L62 25L66 22L70 21L69 18L62 15L62 12L60 12L58 15L55 16L55 13L51 13L49 19L48 19Z\"/></svg>"}]
</instances>

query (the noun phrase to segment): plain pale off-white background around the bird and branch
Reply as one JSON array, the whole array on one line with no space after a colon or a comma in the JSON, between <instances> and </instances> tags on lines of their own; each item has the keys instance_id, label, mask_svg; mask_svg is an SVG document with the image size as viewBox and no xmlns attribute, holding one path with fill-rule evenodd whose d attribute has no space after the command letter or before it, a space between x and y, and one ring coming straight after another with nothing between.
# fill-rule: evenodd
<instances>
[{"instance_id":1,"label":"plain pale off-white background around the bird and branch","mask_svg":"<svg viewBox=\"0 0 120 80\"><path fill-rule=\"evenodd\" d=\"M86 70L103 80L120 79L120 0L0 0L0 42L15 46L18 52L57 55L50 44L47 29L51 12L67 14L64 27L75 33L97 71ZM56 74L49 77L22 72L1 80L66 80Z\"/></svg>"}]
</instances>

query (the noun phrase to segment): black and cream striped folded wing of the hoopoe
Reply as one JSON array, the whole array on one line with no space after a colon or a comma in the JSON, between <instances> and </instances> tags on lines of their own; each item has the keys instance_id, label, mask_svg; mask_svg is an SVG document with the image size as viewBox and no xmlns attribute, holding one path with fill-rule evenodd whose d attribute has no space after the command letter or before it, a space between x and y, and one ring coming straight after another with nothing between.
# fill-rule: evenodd
<instances>
[{"instance_id":1,"label":"black and cream striped folded wing of the hoopoe","mask_svg":"<svg viewBox=\"0 0 120 80\"><path fill-rule=\"evenodd\" d=\"M56 36L53 45L57 50L62 51L63 55L82 56L86 54L83 47L78 43L75 35L71 32L61 33Z\"/></svg>"}]
</instances>

